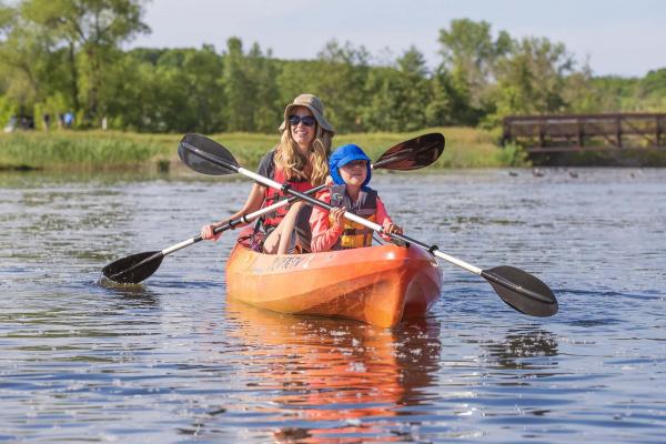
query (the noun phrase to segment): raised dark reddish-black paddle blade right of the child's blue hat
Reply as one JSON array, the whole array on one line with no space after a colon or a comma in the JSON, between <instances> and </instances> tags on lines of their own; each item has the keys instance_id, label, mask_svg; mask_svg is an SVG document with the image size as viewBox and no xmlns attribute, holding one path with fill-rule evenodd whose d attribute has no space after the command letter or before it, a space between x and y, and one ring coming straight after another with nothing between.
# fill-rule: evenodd
<instances>
[{"instance_id":1,"label":"raised dark reddish-black paddle blade right of the child's blue hat","mask_svg":"<svg viewBox=\"0 0 666 444\"><path fill-rule=\"evenodd\" d=\"M444 151L444 135L438 132L420 135L390 148L373 168L408 171L434 163Z\"/></svg>"}]
</instances>

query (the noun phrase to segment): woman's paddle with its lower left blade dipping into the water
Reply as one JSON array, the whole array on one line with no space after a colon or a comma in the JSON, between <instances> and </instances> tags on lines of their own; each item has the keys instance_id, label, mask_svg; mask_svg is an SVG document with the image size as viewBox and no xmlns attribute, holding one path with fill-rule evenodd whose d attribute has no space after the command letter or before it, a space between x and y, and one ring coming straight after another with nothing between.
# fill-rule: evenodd
<instances>
[{"instance_id":1,"label":"woman's paddle with its lower left blade dipping into the water","mask_svg":"<svg viewBox=\"0 0 666 444\"><path fill-rule=\"evenodd\" d=\"M216 143L211 145L213 150L218 150L218 147L220 145ZM373 163L372 168L374 170L385 169L395 171L416 170L435 162L442 154L442 151L444 151L444 137L440 133L425 134L391 147L384 154L380 157L380 159L377 159L375 163ZM191 167L204 174L224 175L230 173L226 168L223 168L216 163L196 162L195 160L192 160L192 162L195 163L195 167ZM316 191L323 188L324 185L316 186L307 191L307 193L314 194ZM261 209L235 220L228 221L223 225L216 226L213 230L213 233L221 233L223 231L234 229L241 223L249 223L264 214L275 211L281 206L294 202L297 199L299 198L291 196L287 200L279 201L265 209ZM150 278L160 268L160 264L165 255L200 242L201 240L201 235L196 235L162 251L148 251L119 259L104 266L102 269L102 273L107 279L117 283L137 284Z\"/></svg>"}]
</instances>

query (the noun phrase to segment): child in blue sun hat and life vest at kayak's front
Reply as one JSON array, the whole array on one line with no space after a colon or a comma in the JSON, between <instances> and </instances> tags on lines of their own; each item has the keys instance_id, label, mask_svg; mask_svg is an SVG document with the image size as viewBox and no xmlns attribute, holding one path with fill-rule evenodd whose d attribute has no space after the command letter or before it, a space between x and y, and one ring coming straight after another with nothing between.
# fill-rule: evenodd
<instances>
[{"instance_id":1,"label":"child in blue sun hat and life vest at kayak's front","mask_svg":"<svg viewBox=\"0 0 666 444\"><path fill-rule=\"evenodd\" d=\"M356 249L372 244L373 231L343 216L350 211L384 228L385 233L402 234L386 214L377 192L370 189L370 158L354 144L340 147L329 159L334 184L322 191L317 199L336 206L329 212L320 206L312 209L311 251ZM391 238L383 235L385 240Z\"/></svg>"}]
</instances>

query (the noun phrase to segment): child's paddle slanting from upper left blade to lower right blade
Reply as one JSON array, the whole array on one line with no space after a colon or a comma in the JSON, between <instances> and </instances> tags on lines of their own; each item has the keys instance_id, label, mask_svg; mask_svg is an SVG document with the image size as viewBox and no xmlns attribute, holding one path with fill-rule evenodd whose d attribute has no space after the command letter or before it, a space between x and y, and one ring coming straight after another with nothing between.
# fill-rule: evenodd
<instances>
[{"instance_id":1,"label":"child's paddle slanting from upper left blade to lower right blade","mask_svg":"<svg viewBox=\"0 0 666 444\"><path fill-rule=\"evenodd\" d=\"M304 200L313 205L332 210L334 206L322 202L311 195L291 190L289 186L278 183L263 175L240 167L229 150L218 142L200 134L186 134L179 144L178 153L188 167L195 171L204 172L216 167L219 173L232 174L240 173L264 185L282 190L293 196ZM208 165L206 165L208 164ZM356 214L345 212L344 216L351 221L360 223L379 233L383 233L382 225L371 222ZM383 233L386 234L386 233ZM532 316L552 316L557 313L557 300L548 286L532 274L516 269L514 266L496 266L490 270L482 270L468 264L460 259L451 256L440 251L437 245L427 245L404 234L387 234L394 240L416 245L423 250L430 251L436 258L443 259L454 265L467 270L485 279L495 290L497 295L511 307L532 315Z\"/></svg>"}]
</instances>

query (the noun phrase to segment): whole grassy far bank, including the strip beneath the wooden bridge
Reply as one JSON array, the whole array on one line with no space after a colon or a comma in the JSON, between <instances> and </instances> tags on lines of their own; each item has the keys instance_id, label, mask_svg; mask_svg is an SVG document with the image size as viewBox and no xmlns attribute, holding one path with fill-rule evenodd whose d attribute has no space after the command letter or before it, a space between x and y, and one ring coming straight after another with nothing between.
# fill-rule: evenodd
<instances>
[{"instance_id":1,"label":"whole grassy far bank, including the strip beneath the wooden bridge","mask_svg":"<svg viewBox=\"0 0 666 444\"><path fill-rule=\"evenodd\" d=\"M446 147L430 169L501 167L666 167L666 150L532 153L518 144L500 145L501 134L475 128L431 128L403 133L340 134L333 147L356 143L379 158L396 143L428 132L441 132ZM168 173L180 167L176 148L183 134L117 131L19 131L0 133L0 171ZM249 169L275 145L278 134L206 134L229 148ZM527 145L526 145L527 147Z\"/></svg>"}]
</instances>

